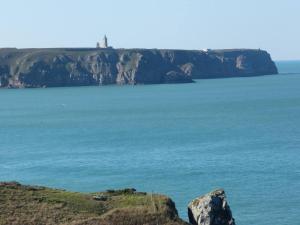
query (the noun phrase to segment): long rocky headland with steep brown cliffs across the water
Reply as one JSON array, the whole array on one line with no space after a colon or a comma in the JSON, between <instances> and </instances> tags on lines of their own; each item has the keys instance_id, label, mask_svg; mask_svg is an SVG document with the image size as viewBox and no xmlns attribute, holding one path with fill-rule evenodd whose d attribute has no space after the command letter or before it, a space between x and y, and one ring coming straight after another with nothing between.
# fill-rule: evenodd
<instances>
[{"instance_id":1,"label":"long rocky headland with steep brown cliffs across the water","mask_svg":"<svg viewBox=\"0 0 300 225\"><path fill-rule=\"evenodd\" d=\"M0 87L188 83L277 74L262 50L0 49Z\"/></svg>"}]
</instances>

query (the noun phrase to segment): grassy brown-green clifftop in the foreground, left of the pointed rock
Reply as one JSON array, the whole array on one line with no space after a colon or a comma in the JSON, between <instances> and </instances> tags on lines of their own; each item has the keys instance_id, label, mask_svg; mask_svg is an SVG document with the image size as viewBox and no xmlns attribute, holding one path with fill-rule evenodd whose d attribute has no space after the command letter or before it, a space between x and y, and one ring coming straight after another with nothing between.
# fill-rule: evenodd
<instances>
[{"instance_id":1,"label":"grassy brown-green clifftop in the foreground, left of the pointed rock","mask_svg":"<svg viewBox=\"0 0 300 225\"><path fill-rule=\"evenodd\" d=\"M0 225L184 225L173 201L133 189L99 193L0 183Z\"/></svg>"}]
</instances>

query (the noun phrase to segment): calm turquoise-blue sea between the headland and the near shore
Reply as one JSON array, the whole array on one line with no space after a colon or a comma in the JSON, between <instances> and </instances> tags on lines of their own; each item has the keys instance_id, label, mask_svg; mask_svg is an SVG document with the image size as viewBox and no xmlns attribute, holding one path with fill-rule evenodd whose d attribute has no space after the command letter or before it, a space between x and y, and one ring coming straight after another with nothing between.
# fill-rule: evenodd
<instances>
[{"instance_id":1,"label":"calm turquoise-blue sea between the headland and the near shore","mask_svg":"<svg viewBox=\"0 0 300 225\"><path fill-rule=\"evenodd\" d=\"M0 180L190 200L225 188L239 225L299 225L300 62L194 84L0 90ZM298 74L298 75L297 75Z\"/></svg>"}]
</instances>

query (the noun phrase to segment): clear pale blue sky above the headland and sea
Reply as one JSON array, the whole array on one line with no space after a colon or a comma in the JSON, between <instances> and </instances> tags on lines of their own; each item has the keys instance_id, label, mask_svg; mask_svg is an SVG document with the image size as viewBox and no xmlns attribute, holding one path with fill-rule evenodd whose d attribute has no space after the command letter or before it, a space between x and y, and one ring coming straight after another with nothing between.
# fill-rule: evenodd
<instances>
[{"instance_id":1,"label":"clear pale blue sky above the headland and sea","mask_svg":"<svg viewBox=\"0 0 300 225\"><path fill-rule=\"evenodd\" d=\"M0 48L261 48L300 59L299 0L0 0Z\"/></svg>"}]
</instances>

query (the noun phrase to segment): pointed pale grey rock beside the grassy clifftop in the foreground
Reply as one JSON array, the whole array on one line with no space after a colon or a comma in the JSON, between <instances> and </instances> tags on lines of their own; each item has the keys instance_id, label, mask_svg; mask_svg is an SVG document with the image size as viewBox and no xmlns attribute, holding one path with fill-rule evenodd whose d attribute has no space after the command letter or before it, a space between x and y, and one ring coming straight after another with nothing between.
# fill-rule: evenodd
<instances>
[{"instance_id":1,"label":"pointed pale grey rock beside the grassy clifftop in the foreground","mask_svg":"<svg viewBox=\"0 0 300 225\"><path fill-rule=\"evenodd\" d=\"M188 205L188 215L193 225L235 225L222 189L193 200Z\"/></svg>"}]
</instances>

